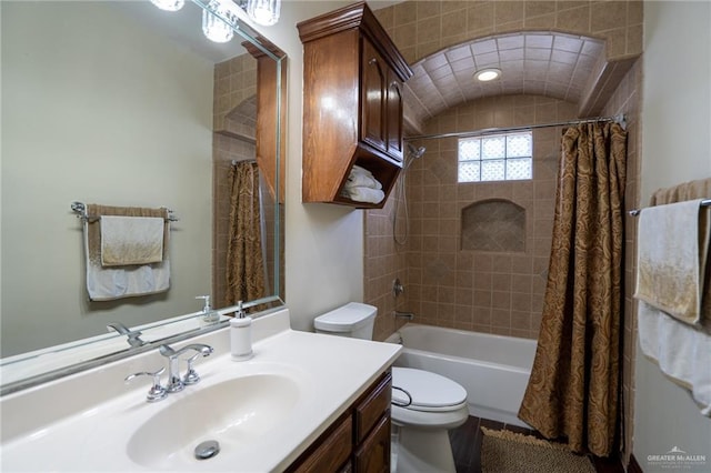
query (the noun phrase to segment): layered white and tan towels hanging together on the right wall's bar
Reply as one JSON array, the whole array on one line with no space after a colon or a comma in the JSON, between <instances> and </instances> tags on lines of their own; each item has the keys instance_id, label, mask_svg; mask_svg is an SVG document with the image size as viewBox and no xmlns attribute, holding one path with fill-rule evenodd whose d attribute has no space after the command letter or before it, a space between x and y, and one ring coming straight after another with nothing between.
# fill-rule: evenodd
<instances>
[{"instance_id":1,"label":"layered white and tan towels hanging together on the right wall's bar","mask_svg":"<svg viewBox=\"0 0 711 473\"><path fill-rule=\"evenodd\" d=\"M664 200L653 198L660 205L640 213L634 293L640 346L711 416L709 209L697 195Z\"/></svg>"}]
</instances>

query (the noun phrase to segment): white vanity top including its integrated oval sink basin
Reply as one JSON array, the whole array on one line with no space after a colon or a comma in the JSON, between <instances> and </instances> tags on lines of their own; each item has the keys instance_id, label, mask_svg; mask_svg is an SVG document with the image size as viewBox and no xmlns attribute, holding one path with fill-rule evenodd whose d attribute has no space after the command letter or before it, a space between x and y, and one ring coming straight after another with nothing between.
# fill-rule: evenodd
<instances>
[{"instance_id":1,"label":"white vanity top including its integrated oval sink basin","mask_svg":"<svg viewBox=\"0 0 711 473\"><path fill-rule=\"evenodd\" d=\"M292 331L282 310L256 319L254 358L230 358L228 330L202 380L146 402L158 351L0 397L3 472L267 472L286 470L397 358L400 345ZM184 371L184 366L183 366ZM163 380L164 382L164 376ZM217 441L220 452L194 457Z\"/></svg>"}]
</instances>

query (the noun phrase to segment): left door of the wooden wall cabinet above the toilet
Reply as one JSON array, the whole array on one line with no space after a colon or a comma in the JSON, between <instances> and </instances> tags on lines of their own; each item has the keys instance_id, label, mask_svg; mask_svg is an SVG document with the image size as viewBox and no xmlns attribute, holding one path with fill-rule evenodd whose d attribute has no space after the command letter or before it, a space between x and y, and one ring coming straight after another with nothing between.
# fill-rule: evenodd
<instances>
[{"instance_id":1,"label":"left door of the wooden wall cabinet above the toilet","mask_svg":"<svg viewBox=\"0 0 711 473\"><path fill-rule=\"evenodd\" d=\"M361 114L360 139L387 151L384 107L388 66L365 38L361 38Z\"/></svg>"}]
</instances>

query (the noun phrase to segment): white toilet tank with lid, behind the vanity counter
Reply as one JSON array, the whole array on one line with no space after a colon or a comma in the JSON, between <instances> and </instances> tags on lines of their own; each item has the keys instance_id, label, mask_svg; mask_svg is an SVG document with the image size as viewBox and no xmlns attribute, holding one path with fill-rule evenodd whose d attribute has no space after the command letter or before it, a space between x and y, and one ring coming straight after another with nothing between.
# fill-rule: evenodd
<instances>
[{"instance_id":1,"label":"white toilet tank with lid, behind the vanity counter","mask_svg":"<svg viewBox=\"0 0 711 473\"><path fill-rule=\"evenodd\" d=\"M361 302L349 302L313 320L316 333L372 340L378 308Z\"/></svg>"}]
</instances>

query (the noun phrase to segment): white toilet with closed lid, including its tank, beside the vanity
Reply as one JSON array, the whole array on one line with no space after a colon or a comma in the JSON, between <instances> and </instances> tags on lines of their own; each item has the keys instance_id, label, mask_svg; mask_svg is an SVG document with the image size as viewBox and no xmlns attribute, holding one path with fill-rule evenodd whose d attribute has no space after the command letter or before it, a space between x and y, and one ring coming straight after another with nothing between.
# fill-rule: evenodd
<instances>
[{"instance_id":1,"label":"white toilet with closed lid, including its tank, beside the vanity","mask_svg":"<svg viewBox=\"0 0 711 473\"><path fill-rule=\"evenodd\" d=\"M317 333L371 340L378 309L350 302L316 318ZM454 472L448 430L469 416L467 391L429 371L392 368L393 469L400 473ZM397 465L397 466L395 466Z\"/></svg>"}]
</instances>

